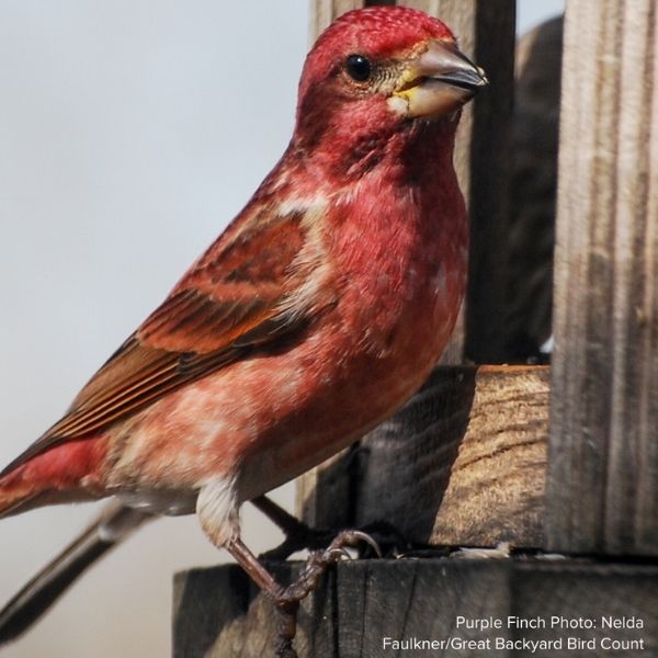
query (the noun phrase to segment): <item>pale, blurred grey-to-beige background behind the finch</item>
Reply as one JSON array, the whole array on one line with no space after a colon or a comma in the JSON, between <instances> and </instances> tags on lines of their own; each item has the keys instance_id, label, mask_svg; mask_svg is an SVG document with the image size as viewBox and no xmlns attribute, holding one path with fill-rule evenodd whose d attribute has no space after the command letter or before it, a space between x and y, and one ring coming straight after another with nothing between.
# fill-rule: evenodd
<instances>
[{"instance_id":1,"label":"pale, blurred grey-to-beige background behind the finch","mask_svg":"<svg viewBox=\"0 0 658 658\"><path fill-rule=\"evenodd\" d=\"M561 0L520 0L519 33ZM0 0L0 464L37 438L276 162L306 1ZM292 504L293 489L275 499ZM247 543L280 535L251 509ZM0 604L94 514L0 523ZM167 656L171 576L226 560L194 518L145 527L8 658Z\"/></svg>"}]
</instances>

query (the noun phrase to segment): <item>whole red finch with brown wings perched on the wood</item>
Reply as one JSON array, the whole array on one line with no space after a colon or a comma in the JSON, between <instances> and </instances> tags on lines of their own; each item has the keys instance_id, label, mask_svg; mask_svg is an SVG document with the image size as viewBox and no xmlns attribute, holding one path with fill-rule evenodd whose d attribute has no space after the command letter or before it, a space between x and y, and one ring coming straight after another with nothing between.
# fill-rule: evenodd
<instances>
[{"instance_id":1,"label":"whole red finch with brown wings perched on the wood","mask_svg":"<svg viewBox=\"0 0 658 658\"><path fill-rule=\"evenodd\" d=\"M327 560L283 587L242 542L240 507L379 424L440 359L467 272L455 133L487 83L423 12L336 20L307 55L280 161L63 418L0 472L0 519L112 498L72 545L75 578L145 520L196 513L283 611L277 654L293 656L285 614Z\"/></svg>"}]
</instances>

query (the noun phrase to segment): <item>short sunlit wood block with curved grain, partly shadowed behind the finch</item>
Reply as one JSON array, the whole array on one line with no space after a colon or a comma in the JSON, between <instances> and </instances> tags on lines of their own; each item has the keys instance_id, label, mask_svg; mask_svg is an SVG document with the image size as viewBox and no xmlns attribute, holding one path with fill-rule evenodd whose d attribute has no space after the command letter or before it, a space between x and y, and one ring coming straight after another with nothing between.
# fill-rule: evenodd
<instances>
[{"instance_id":1,"label":"short sunlit wood block with curved grain, partly shadowed behind the finch","mask_svg":"<svg viewBox=\"0 0 658 658\"><path fill-rule=\"evenodd\" d=\"M387 521L419 544L541 546L547 366L439 367L358 449L303 478L318 526Z\"/></svg>"}]
</instances>

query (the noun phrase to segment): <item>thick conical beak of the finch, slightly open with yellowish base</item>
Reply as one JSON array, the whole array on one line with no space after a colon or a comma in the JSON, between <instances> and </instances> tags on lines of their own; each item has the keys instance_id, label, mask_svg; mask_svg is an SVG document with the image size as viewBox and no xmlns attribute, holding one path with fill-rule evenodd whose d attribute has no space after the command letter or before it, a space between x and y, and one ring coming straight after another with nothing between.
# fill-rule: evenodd
<instances>
[{"instance_id":1,"label":"thick conical beak of the finch, slightly open with yellowish base","mask_svg":"<svg viewBox=\"0 0 658 658\"><path fill-rule=\"evenodd\" d=\"M390 98L398 112L408 117L450 114L489 83L455 44L432 39L426 46L408 61Z\"/></svg>"}]
</instances>

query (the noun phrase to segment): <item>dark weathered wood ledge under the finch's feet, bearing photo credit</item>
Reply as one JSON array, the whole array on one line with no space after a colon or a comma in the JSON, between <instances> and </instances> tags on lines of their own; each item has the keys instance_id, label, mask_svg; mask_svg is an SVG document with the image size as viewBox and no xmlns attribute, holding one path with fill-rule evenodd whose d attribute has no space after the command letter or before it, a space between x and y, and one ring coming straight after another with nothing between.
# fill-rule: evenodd
<instances>
[{"instance_id":1,"label":"dark weathered wood ledge under the finch's feet, bearing photo credit","mask_svg":"<svg viewBox=\"0 0 658 658\"><path fill-rule=\"evenodd\" d=\"M287 579L299 568L288 563L276 572ZM530 648L521 646L525 639L561 645L533 656L644 658L658 654L656 610L655 565L533 558L358 560L338 565L303 602L295 647L299 658L512 658L531 655ZM472 627L458 622L460 615ZM626 623L609 628L604 617ZM635 622L628 622L632 619ZM476 620L500 627L474 628ZM538 627L520 627L524 620ZM593 627L583 628L590 621ZM632 627L633 623L643 627ZM175 658L264 658L272 655L273 637L271 604L238 567L194 569L177 576ZM384 638L436 640L443 646L395 650L385 648ZM468 640L476 644L465 645ZM576 640L590 644L576 646ZM449 642L452 645L446 646ZM624 644L614 648L605 642Z\"/></svg>"}]
</instances>

